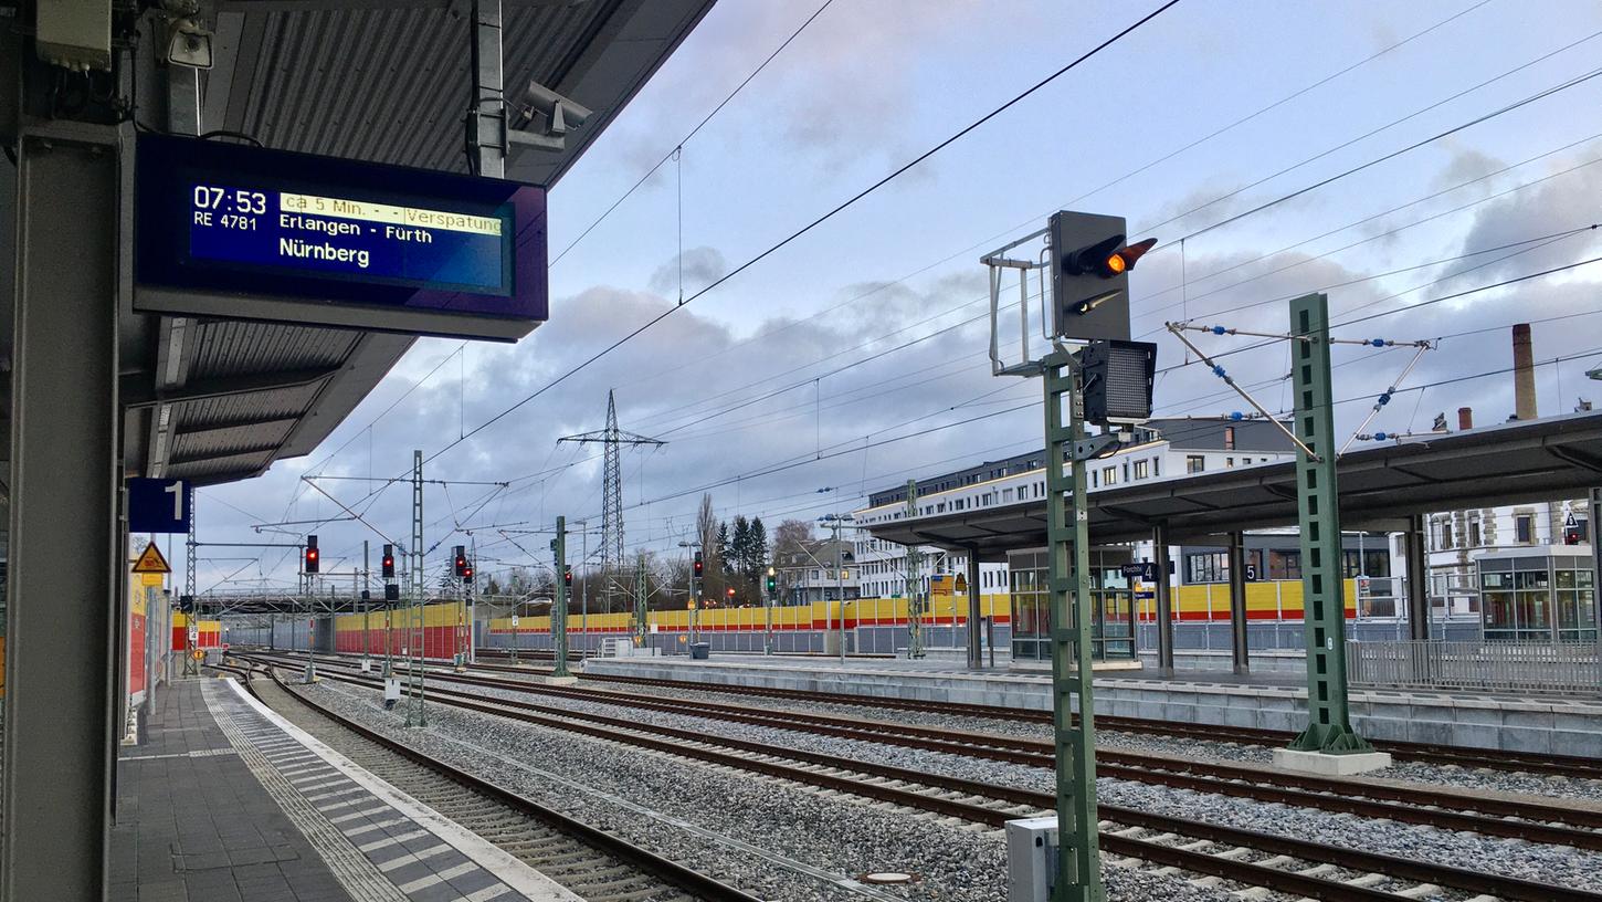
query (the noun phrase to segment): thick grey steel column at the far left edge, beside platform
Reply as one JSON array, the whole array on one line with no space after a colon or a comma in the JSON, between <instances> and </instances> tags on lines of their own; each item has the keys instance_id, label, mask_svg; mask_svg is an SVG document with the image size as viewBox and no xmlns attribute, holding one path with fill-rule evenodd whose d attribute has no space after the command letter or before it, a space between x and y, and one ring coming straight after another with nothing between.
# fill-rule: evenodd
<instances>
[{"instance_id":1,"label":"thick grey steel column at the far left edge, beside platform","mask_svg":"<svg viewBox=\"0 0 1602 902\"><path fill-rule=\"evenodd\" d=\"M117 546L119 146L115 128L67 123L18 141L0 777L8 902L106 894L127 566Z\"/></svg>"}]
</instances>

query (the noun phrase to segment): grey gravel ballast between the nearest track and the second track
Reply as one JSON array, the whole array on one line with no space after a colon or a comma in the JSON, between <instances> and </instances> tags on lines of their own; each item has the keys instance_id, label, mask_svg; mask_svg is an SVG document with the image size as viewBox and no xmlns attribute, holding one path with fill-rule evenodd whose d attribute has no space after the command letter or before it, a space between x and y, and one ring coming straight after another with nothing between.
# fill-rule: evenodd
<instances>
[{"instance_id":1,"label":"grey gravel ballast between the nearest track and the second track","mask_svg":"<svg viewBox=\"0 0 1602 902\"><path fill-rule=\"evenodd\" d=\"M384 711L373 691L328 683L300 691L436 758L561 807L764 899L833 902L862 899L862 894L714 843L708 835L732 838L835 875L920 875L912 884L873 888L878 897L974 902L1006 899L1006 851L998 830L913 815L889 806L759 779L743 771L445 705L428 708L429 729L407 731L402 715ZM660 817L646 815L638 807L617 804L601 795L575 791L553 775L622 796L634 806L660 812ZM703 833L674 827L673 820ZM1105 880L1109 897L1118 902L1230 899L1222 889L1197 889L1184 880L1147 872L1105 868Z\"/></svg>"}]
</instances>

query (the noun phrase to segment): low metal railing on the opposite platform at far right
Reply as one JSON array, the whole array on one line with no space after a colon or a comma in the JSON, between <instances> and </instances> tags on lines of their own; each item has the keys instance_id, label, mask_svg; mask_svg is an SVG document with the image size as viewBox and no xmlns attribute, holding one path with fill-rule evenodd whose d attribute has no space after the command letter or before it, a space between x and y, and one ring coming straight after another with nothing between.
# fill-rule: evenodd
<instances>
[{"instance_id":1,"label":"low metal railing on the opposite platform at far right","mask_svg":"<svg viewBox=\"0 0 1602 902\"><path fill-rule=\"evenodd\" d=\"M1596 642L1347 642L1346 668L1352 686L1602 694Z\"/></svg>"}]
</instances>

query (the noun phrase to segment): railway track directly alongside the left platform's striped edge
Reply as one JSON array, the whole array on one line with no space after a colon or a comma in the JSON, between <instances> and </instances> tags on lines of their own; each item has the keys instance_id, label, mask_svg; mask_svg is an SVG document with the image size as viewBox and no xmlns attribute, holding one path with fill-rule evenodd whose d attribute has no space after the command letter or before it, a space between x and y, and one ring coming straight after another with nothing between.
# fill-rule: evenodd
<instances>
[{"instance_id":1,"label":"railway track directly alongside the left platform's striped edge","mask_svg":"<svg viewBox=\"0 0 1602 902\"><path fill-rule=\"evenodd\" d=\"M596 830L556 809L378 734L292 692L269 666L269 684L245 668L210 665L245 679L252 695L296 726L466 830L591 902L759 902L756 896ZM311 719L293 716L296 705Z\"/></svg>"}]
</instances>

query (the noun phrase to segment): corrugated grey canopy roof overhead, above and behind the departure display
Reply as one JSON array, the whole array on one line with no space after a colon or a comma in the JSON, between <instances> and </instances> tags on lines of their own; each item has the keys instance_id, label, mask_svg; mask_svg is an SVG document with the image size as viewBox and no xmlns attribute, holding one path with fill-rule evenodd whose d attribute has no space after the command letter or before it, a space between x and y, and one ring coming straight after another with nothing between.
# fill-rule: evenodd
<instances>
[{"instance_id":1,"label":"corrugated grey canopy roof overhead, above and behind the departure display","mask_svg":"<svg viewBox=\"0 0 1602 902\"><path fill-rule=\"evenodd\" d=\"M554 184L711 5L503 0L508 90L537 80L594 111L566 151L514 152L508 178ZM274 149L466 171L471 10L466 0L219 0L202 128ZM141 109L159 111L160 91L141 90L154 91ZM200 485L309 453L413 343L135 314L122 335L128 473Z\"/></svg>"}]
</instances>

